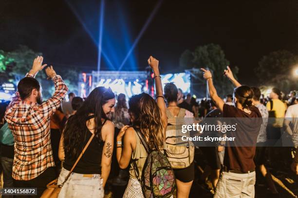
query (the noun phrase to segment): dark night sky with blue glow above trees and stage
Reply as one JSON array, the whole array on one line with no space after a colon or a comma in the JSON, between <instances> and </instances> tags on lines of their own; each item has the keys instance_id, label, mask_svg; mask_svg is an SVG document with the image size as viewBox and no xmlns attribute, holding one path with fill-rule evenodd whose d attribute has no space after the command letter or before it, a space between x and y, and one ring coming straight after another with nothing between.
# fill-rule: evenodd
<instances>
[{"instance_id":1,"label":"dark night sky with blue glow above trees and stage","mask_svg":"<svg viewBox=\"0 0 298 198\"><path fill-rule=\"evenodd\" d=\"M105 2L103 50L118 68L158 1ZM0 49L10 51L22 44L42 52L54 67L96 69L99 10L95 0L1 0ZM143 70L152 54L163 73L171 72L184 50L215 43L231 66L240 68L240 81L252 84L252 69L263 55L279 49L298 52L297 13L297 0L164 0L124 69ZM129 38L123 39L123 29ZM104 58L102 69L112 69Z\"/></svg>"}]
</instances>

